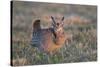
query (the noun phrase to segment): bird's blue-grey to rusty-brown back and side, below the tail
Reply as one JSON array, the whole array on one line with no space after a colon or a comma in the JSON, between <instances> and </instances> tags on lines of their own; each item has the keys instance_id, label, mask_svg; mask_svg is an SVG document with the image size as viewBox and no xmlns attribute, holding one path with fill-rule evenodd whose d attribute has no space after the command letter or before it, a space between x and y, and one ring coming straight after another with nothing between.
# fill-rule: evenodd
<instances>
[{"instance_id":1,"label":"bird's blue-grey to rusty-brown back and side, below the tail","mask_svg":"<svg viewBox=\"0 0 100 67\"><path fill-rule=\"evenodd\" d=\"M47 51L52 45L53 41L53 33L52 29L40 29L38 31L33 31L32 36L32 45L38 47L41 50Z\"/></svg>"}]
</instances>

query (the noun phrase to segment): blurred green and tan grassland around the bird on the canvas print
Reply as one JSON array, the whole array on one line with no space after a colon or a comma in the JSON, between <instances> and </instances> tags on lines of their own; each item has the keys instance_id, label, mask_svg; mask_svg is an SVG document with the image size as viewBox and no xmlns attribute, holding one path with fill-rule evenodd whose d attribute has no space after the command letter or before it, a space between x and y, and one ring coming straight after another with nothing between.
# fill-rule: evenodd
<instances>
[{"instance_id":1,"label":"blurred green and tan grassland around the bird on the canvas print","mask_svg":"<svg viewBox=\"0 0 100 67\"><path fill-rule=\"evenodd\" d=\"M97 6L13 1L12 63L38 65L97 60ZM46 55L30 45L32 24L41 19L51 26L50 16L65 17L64 30L70 42L54 55Z\"/></svg>"}]
</instances>

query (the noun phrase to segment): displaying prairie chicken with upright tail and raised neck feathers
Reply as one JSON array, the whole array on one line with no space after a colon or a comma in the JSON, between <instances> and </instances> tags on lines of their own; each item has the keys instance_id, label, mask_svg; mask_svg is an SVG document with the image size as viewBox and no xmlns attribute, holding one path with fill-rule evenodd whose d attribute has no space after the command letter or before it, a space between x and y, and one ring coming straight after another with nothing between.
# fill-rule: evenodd
<instances>
[{"instance_id":1,"label":"displaying prairie chicken with upright tail and raised neck feathers","mask_svg":"<svg viewBox=\"0 0 100 67\"><path fill-rule=\"evenodd\" d=\"M51 16L51 19L52 27L46 29L41 28L40 20L35 20L33 23L32 46L47 53L61 48L66 40L63 29L64 17L57 19Z\"/></svg>"}]
</instances>

